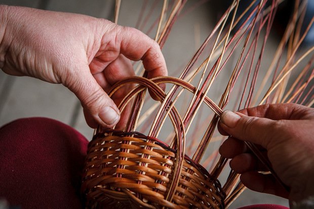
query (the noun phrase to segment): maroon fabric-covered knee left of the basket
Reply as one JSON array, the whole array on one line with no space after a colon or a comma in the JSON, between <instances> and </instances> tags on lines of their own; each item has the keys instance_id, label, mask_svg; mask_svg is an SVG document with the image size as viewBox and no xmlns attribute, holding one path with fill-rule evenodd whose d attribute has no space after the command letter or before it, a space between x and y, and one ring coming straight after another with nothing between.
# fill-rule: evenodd
<instances>
[{"instance_id":1,"label":"maroon fabric-covered knee left of the basket","mask_svg":"<svg viewBox=\"0 0 314 209\"><path fill-rule=\"evenodd\" d=\"M0 197L23 209L82 208L87 144L52 119L20 119L0 128Z\"/></svg>"}]
</instances>

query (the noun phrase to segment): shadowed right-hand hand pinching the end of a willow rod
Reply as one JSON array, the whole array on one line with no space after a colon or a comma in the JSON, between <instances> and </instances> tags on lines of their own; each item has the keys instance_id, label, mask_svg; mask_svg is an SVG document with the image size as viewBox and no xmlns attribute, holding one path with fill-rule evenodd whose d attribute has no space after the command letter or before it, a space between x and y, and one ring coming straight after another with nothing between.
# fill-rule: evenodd
<instances>
[{"instance_id":1,"label":"shadowed right-hand hand pinching the end of a willow rod","mask_svg":"<svg viewBox=\"0 0 314 209\"><path fill-rule=\"evenodd\" d=\"M232 159L248 188L299 201L314 194L314 109L296 104L262 105L237 114L225 111L219 131L231 135L219 152ZM290 187L288 193L257 160L243 141L260 145L273 170Z\"/></svg>"}]
</instances>

